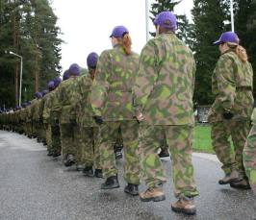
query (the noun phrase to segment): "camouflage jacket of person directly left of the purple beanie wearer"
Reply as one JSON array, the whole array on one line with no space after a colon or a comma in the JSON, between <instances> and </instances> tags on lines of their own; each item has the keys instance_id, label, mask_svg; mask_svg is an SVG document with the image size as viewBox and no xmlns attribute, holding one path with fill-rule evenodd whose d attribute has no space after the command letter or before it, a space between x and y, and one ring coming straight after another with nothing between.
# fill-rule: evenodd
<instances>
[{"instance_id":1,"label":"camouflage jacket of person directly left of the purple beanie wearer","mask_svg":"<svg viewBox=\"0 0 256 220\"><path fill-rule=\"evenodd\" d=\"M72 103L72 85L78 81L77 76L69 76L69 79L58 86L56 97L53 103L53 118L60 119L61 124L69 124L69 111Z\"/></svg>"}]
</instances>

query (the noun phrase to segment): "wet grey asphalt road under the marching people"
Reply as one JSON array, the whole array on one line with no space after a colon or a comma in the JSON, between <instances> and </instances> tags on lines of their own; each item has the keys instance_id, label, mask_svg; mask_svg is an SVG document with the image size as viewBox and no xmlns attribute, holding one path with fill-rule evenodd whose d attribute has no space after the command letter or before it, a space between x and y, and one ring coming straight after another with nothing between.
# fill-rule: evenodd
<instances>
[{"instance_id":1,"label":"wet grey asphalt road under the marching people","mask_svg":"<svg viewBox=\"0 0 256 220\"><path fill-rule=\"evenodd\" d=\"M24 135L0 131L0 220L253 220L255 196L251 190L219 185L223 177L215 156L194 154L195 181L200 193L193 216L173 212L172 170L163 159L168 175L166 201L141 203L123 192L122 159L117 160L117 189L102 190L103 179L85 177L75 166L64 167L62 158L47 157L45 146ZM142 183L140 191L146 189Z\"/></svg>"}]
</instances>

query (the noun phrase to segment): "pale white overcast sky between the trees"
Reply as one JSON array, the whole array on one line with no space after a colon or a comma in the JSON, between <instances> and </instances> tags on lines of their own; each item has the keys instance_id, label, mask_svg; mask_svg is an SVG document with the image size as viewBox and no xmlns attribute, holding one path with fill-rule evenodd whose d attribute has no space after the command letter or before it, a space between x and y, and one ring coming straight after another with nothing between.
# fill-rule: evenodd
<instances>
[{"instance_id":1,"label":"pale white overcast sky between the trees","mask_svg":"<svg viewBox=\"0 0 256 220\"><path fill-rule=\"evenodd\" d=\"M155 0L148 2L151 10ZM87 67L91 52L100 55L111 49L109 36L117 25L124 25L129 30L135 52L140 54L146 43L145 0L54 0L52 8L59 18L57 25L64 33L60 36L65 41L61 60L63 72L72 63ZM189 17L191 10L192 0L182 0L174 8L175 13L186 13ZM151 20L149 24L149 31L155 31Z\"/></svg>"}]
</instances>

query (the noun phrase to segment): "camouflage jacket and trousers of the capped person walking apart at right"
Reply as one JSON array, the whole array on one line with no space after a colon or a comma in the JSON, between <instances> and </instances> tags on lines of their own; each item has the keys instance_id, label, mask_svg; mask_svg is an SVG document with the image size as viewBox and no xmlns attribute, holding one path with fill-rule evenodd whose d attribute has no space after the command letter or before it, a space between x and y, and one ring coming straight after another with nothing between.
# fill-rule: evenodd
<instances>
[{"instance_id":1,"label":"camouflage jacket and trousers of the capped person walking apart at right","mask_svg":"<svg viewBox=\"0 0 256 220\"><path fill-rule=\"evenodd\" d=\"M216 100L208 113L212 125L212 144L225 174L239 168L247 180L243 167L243 147L250 131L253 110L251 64L243 62L230 49L219 58L212 77ZM222 113L233 112L234 117L224 119ZM231 135L235 153L228 140Z\"/></svg>"}]
</instances>

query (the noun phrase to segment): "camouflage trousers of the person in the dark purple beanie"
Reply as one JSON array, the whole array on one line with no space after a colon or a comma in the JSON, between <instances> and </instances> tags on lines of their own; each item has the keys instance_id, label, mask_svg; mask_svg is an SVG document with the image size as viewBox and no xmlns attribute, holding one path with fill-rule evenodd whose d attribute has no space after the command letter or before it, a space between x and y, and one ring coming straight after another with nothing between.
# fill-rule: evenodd
<instances>
[{"instance_id":1,"label":"camouflage trousers of the person in the dark purple beanie","mask_svg":"<svg viewBox=\"0 0 256 220\"><path fill-rule=\"evenodd\" d=\"M81 129L83 137L83 162L84 166L94 166L95 169L101 169L99 155L99 128L83 127Z\"/></svg>"}]
</instances>

